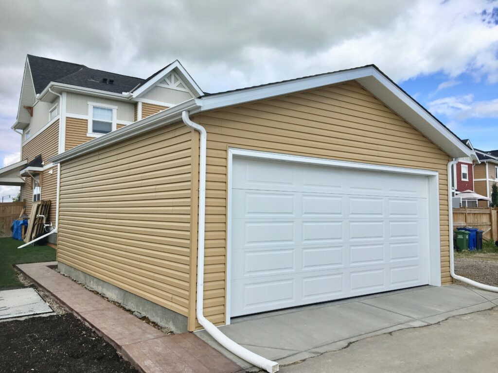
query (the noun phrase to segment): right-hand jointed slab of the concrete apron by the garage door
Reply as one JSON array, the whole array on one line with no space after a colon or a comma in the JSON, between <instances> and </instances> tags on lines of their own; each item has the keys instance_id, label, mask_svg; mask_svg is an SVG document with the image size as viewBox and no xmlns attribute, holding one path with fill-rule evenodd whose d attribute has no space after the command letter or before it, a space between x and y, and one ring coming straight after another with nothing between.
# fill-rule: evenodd
<instances>
[{"instance_id":1,"label":"right-hand jointed slab of the concrete apron by the garage door","mask_svg":"<svg viewBox=\"0 0 498 373\"><path fill-rule=\"evenodd\" d=\"M465 286L448 285L367 299L363 303L415 319L424 319L485 301Z\"/></svg>"}]
</instances>

